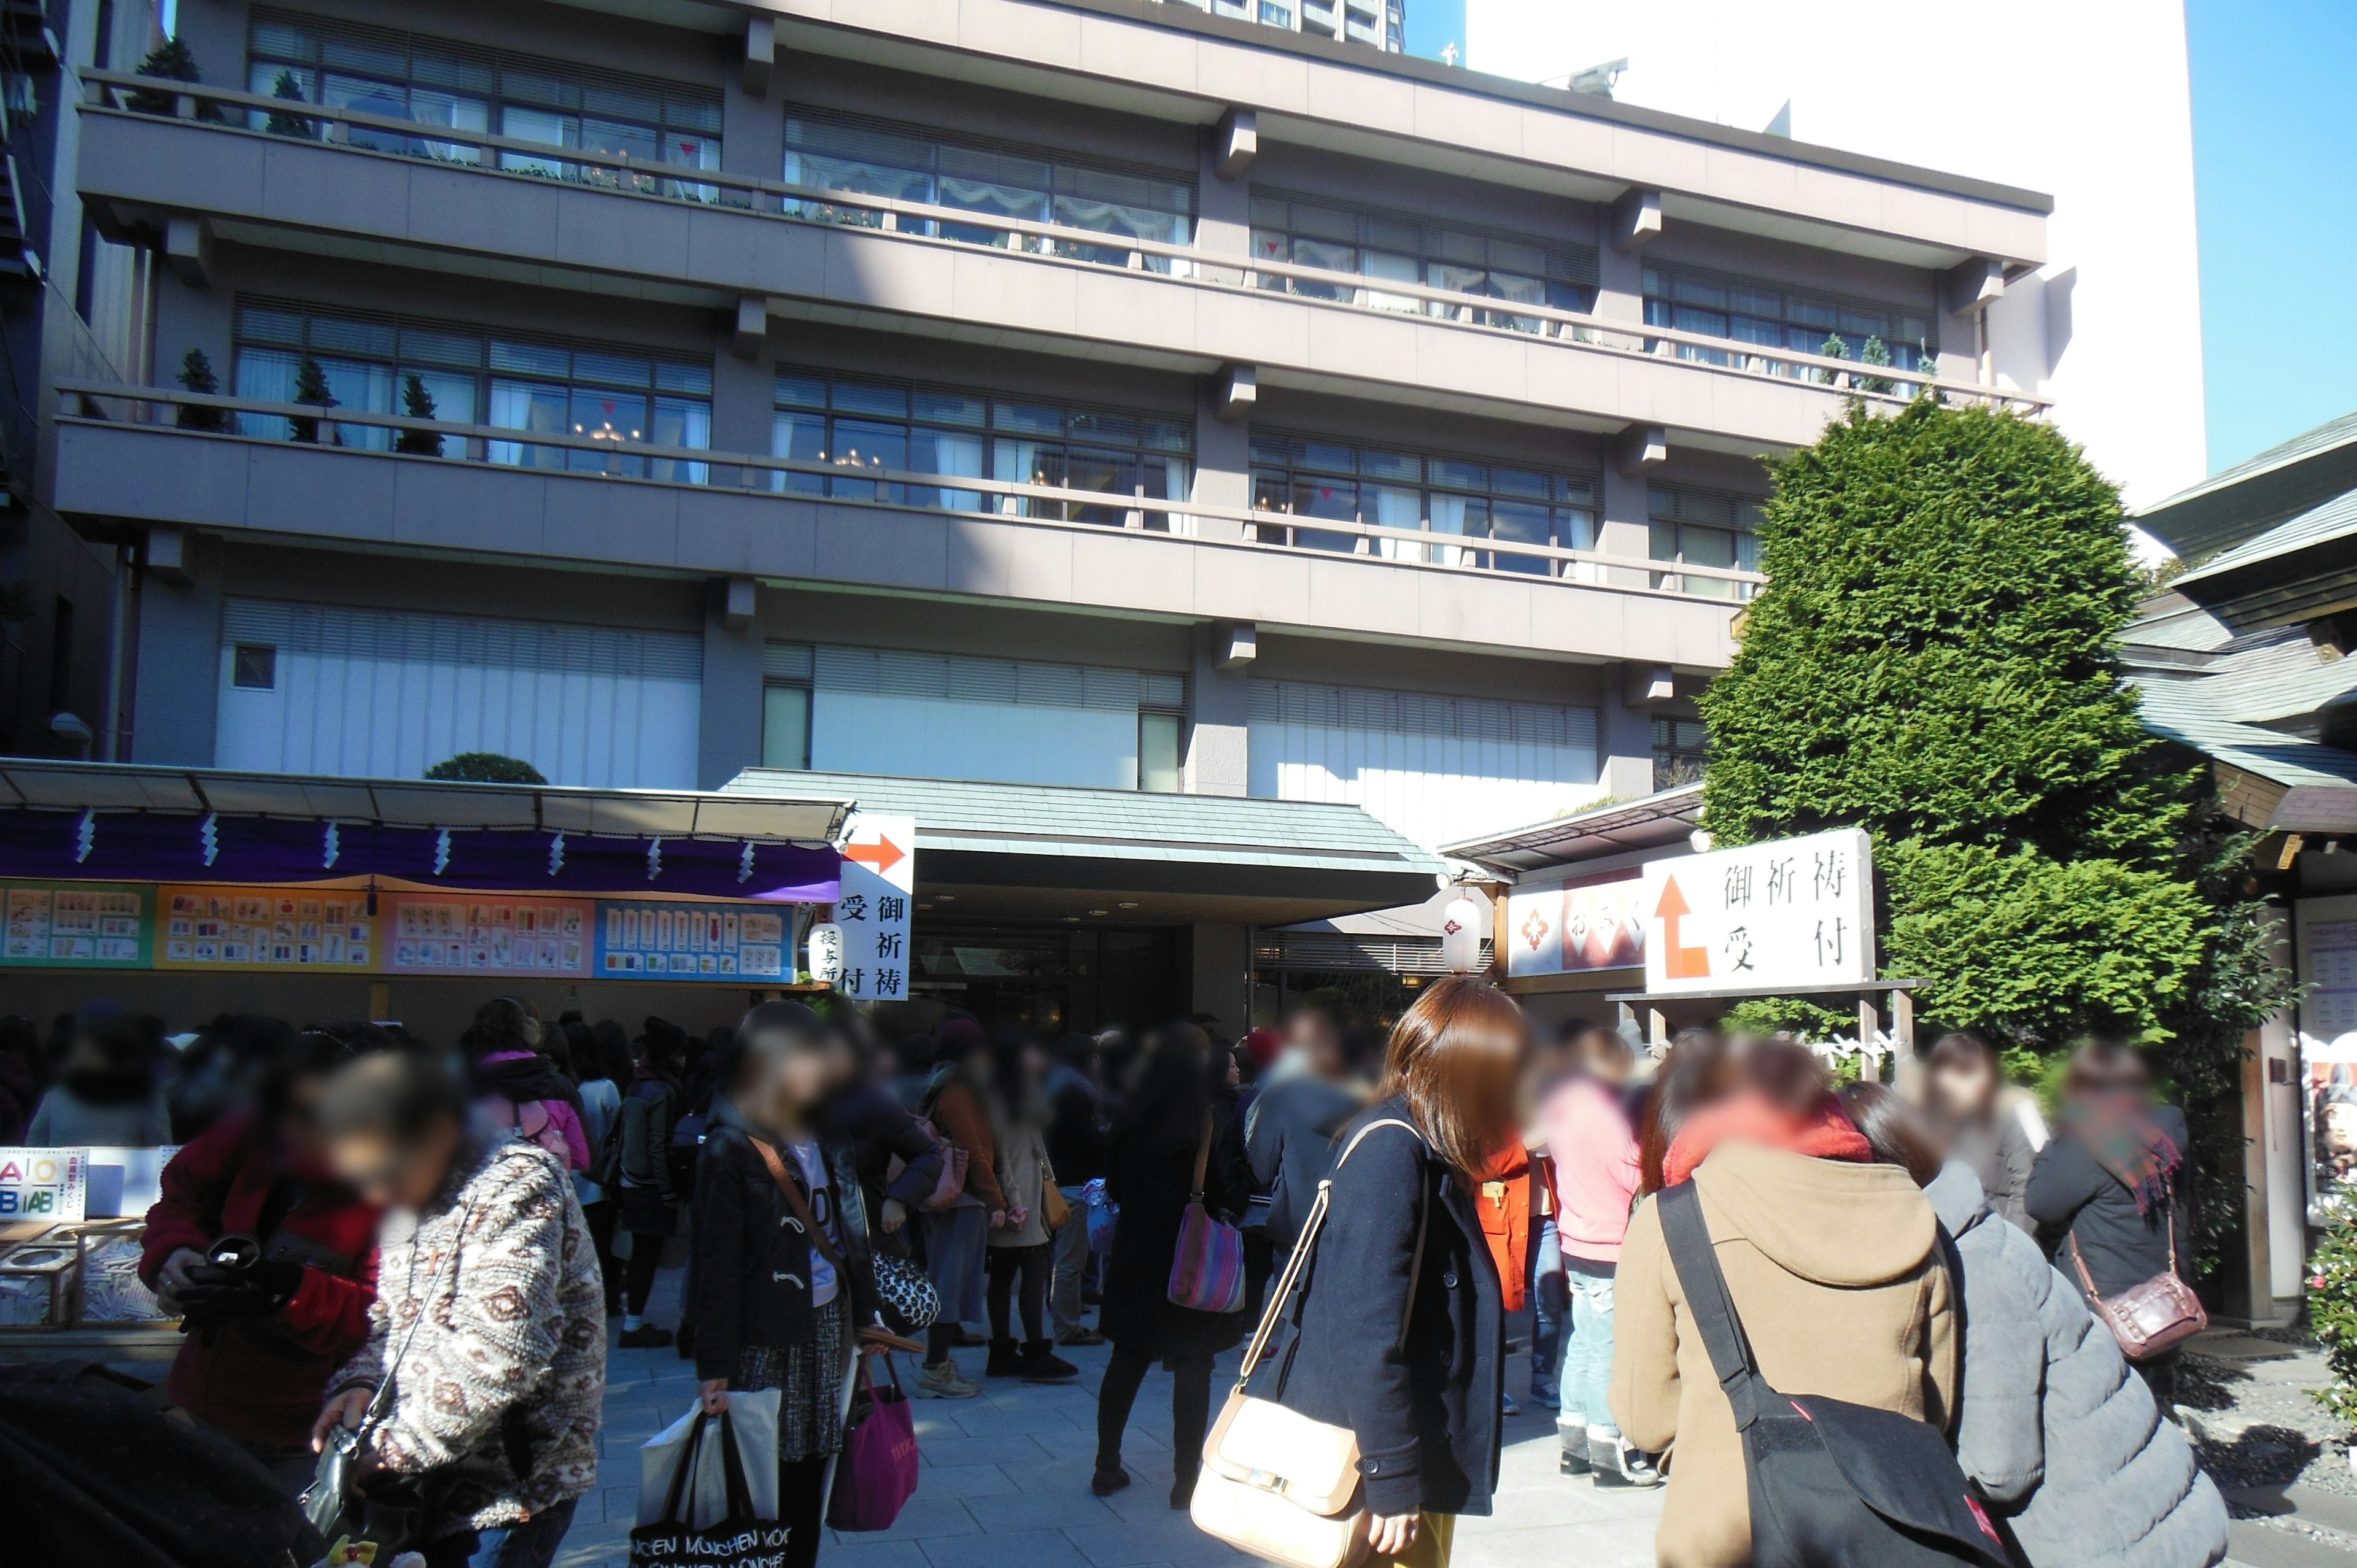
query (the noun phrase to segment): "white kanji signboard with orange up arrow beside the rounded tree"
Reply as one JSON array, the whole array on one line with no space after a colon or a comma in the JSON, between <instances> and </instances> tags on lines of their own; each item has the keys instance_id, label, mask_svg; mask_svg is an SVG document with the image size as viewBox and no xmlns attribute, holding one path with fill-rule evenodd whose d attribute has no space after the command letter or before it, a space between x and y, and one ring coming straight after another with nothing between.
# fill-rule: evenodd
<instances>
[{"instance_id":1,"label":"white kanji signboard with orange up arrow beside the rounded tree","mask_svg":"<svg viewBox=\"0 0 2357 1568\"><path fill-rule=\"evenodd\" d=\"M1857 828L1645 865L1645 990L1874 981L1874 863Z\"/></svg>"}]
</instances>

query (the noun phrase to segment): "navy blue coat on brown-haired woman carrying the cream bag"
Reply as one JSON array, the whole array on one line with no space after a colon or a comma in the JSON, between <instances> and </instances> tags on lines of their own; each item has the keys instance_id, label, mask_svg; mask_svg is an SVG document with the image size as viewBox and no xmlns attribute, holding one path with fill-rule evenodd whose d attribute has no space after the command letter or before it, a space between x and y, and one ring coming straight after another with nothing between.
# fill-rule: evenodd
<instances>
[{"instance_id":1,"label":"navy blue coat on brown-haired woman carrying the cream bag","mask_svg":"<svg viewBox=\"0 0 2357 1568\"><path fill-rule=\"evenodd\" d=\"M1336 1155L1384 1118L1412 1120L1405 1101L1381 1101L1341 1129ZM1325 1231L1287 1316L1252 1391L1355 1431L1369 1509L1490 1511L1506 1302L1473 1195L1424 1139L1376 1127L1336 1167Z\"/></svg>"}]
</instances>

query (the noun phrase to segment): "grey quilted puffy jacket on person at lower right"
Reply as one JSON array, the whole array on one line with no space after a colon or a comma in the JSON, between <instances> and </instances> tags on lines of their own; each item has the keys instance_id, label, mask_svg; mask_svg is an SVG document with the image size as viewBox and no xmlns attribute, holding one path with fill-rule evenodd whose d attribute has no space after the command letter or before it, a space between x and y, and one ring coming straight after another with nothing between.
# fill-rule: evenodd
<instances>
[{"instance_id":1,"label":"grey quilted puffy jacket on person at lower right","mask_svg":"<svg viewBox=\"0 0 2357 1568\"><path fill-rule=\"evenodd\" d=\"M2034 1568L2206 1568L2225 1502L2112 1335L1949 1160L1926 1191L1963 1261L1956 1460Z\"/></svg>"}]
</instances>

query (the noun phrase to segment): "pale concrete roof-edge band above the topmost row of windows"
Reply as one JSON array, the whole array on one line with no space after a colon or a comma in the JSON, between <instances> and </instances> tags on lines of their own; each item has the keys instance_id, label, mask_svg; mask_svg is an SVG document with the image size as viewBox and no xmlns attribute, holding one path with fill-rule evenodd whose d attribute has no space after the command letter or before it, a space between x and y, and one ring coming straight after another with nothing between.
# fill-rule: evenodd
<instances>
[{"instance_id":1,"label":"pale concrete roof-edge band above the topmost row of windows","mask_svg":"<svg viewBox=\"0 0 2357 1568\"><path fill-rule=\"evenodd\" d=\"M1211 125L1907 266L2046 259L2053 198L1153 0L721 0L780 47ZM740 21L738 21L740 26Z\"/></svg>"}]
</instances>

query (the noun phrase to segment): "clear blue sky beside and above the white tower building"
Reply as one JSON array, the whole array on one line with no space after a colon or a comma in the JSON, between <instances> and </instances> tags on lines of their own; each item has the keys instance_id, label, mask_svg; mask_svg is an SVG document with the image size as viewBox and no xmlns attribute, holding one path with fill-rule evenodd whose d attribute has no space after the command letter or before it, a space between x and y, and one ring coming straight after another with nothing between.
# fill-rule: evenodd
<instances>
[{"instance_id":1,"label":"clear blue sky beside and above the white tower building","mask_svg":"<svg viewBox=\"0 0 2357 1568\"><path fill-rule=\"evenodd\" d=\"M2185 28L2223 469L2357 410L2357 2L2185 0ZM1464 50L1464 0L1407 0L1409 54Z\"/></svg>"}]
</instances>

